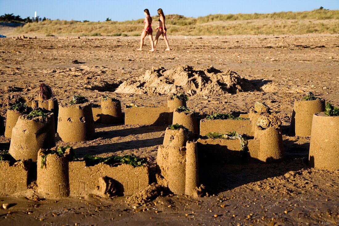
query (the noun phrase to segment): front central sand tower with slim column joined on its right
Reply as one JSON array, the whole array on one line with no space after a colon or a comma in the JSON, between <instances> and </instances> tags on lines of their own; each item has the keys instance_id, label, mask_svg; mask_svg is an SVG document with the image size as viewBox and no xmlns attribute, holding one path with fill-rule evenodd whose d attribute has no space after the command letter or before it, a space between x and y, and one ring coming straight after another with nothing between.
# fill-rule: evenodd
<instances>
[{"instance_id":1,"label":"front central sand tower with slim column joined on its right","mask_svg":"<svg viewBox=\"0 0 339 226\"><path fill-rule=\"evenodd\" d=\"M199 186L198 154L196 142L178 146L180 133L167 146L160 145L157 154L157 180L174 194L197 197Z\"/></svg>"}]
</instances>

